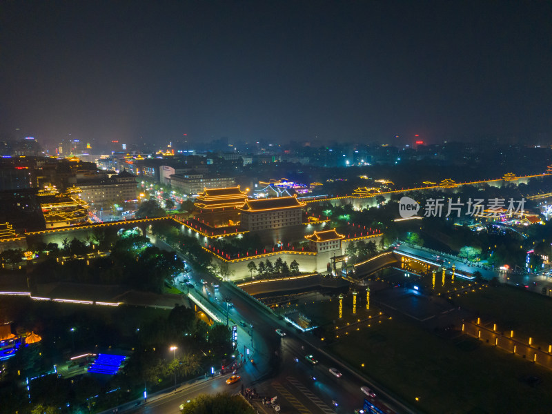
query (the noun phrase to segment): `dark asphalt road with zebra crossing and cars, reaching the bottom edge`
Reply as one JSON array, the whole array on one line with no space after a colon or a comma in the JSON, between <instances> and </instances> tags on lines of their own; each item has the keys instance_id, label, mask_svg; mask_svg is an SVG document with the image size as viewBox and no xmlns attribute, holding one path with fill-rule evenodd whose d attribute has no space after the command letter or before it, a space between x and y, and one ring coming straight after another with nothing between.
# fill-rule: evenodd
<instances>
[{"instance_id":1,"label":"dark asphalt road with zebra crossing and cars, reaching the bottom edge","mask_svg":"<svg viewBox=\"0 0 552 414\"><path fill-rule=\"evenodd\" d=\"M149 235L148 235L149 236ZM170 246L155 237L150 237L152 243L160 248L172 250ZM221 391L237 392L242 384L245 388L255 388L263 397L277 396L277 402L281 406L280 413L353 413L355 408L361 408L364 394L360 386L368 385L378 394L377 386L367 384L359 380L355 374L325 357L318 346L318 340L312 335L298 333L295 328L288 326L272 313L264 311L261 306L255 304L247 295L237 293L235 288L228 286L208 273L192 270L188 276L196 285L196 290L203 293L212 302L225 306L224 299L230 297L233 307L229 308L228 319L230 326L237 325L237 359L242 361L242 354L250 350L249 358L238 374L242 381L228 386L224 377L215 377L204 384L197 384L180 391L169 394L155 402L148 403L148 413L177 413L178 406L185 400L190 400L200 393L217 393ZM204 279L208 284L200 283ZM214 288L213 284L218 284ZM221 313L220 319L226 321L226 315ZM245 322L242 326L240 322ZM250 328L253 326L253 328ZM275 329L281 328L285 337L279 337ZM252 337L253 336L253 337ZM313 354L319 364L313 366L306 361L305 356ZM295 358L299 362L295 362ZM254 359L252 364L248 359ZM329 368L335 367L343 373L337 378L329 372ZM311 376L316 377L313 381ZM338 402L335 407L332 400ZM391 397L385 398L385 403L397 413L411 412L403 409L399 402L394 402ZM151 404L151 405L150 405ZM259 406L259 411L274 413L272 408ZM132 412L141 412L144 407L136 408Z\"/></svg>"}]
</instances>

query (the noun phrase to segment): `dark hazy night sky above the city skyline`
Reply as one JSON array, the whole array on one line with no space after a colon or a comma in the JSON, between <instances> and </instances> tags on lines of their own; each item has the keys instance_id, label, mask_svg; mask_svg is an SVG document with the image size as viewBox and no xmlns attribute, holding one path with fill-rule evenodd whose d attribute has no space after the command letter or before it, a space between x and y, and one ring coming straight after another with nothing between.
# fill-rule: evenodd
<instances>
[{"instance_id":1,"label":"dark hazy night sky above the city skyline","mask_svg":"<svg viewBox=\"0 0 552 414\"><path fill-rule=\"evenodd\" d=\"M552 132L552 1L2 1L0 130L166 143Z\"/></svg>"}]
</instances>

